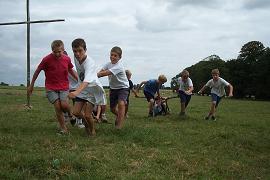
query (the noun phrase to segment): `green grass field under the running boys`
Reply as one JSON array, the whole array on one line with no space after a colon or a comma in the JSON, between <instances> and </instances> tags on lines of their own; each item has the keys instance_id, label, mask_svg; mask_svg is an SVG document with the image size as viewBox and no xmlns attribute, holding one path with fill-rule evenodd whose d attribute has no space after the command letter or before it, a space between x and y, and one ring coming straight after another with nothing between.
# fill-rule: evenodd
<instances>
[{"instance_id":1,"label":"green grass field under the running boys","mask_svg":"<svg viewBox=\"0 0 270 180\"><path fill-rule=\"evenodd\" d=\"M146 101L132 97L121 131L96 124L87 138L70 125L57 135L44 90L29 111L25 94L0 88L0 179L270 179L270 102L223 99L213 122L203 120L209 97L193 96L184 119L178 99L170 115L148 118Z\"/></svg>"}]
</instances>

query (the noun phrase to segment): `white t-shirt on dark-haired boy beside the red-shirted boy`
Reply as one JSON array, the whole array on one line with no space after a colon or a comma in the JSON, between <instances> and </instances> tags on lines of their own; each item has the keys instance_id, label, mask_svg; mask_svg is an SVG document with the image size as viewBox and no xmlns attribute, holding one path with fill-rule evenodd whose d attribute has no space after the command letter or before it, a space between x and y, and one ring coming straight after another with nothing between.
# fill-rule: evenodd
<instances>
[{"instance_id":1,"label":"white t-shirt on dark-haired boy beside the red-shirted boy","mask_svg":"<svg viewBox=\"0 0 270 180\"><path fill-rule=\"evenodd\" d=\"M83 94L91 92L90 88L94 86L98 86L103 90L102 84L97 77L97 67L95 61L92 58L87 56L85 61L80 64L79 61L74 57L74 62L78 73L79 84L82 82L89 83L88 86L82 91Z\"/></svg>"}]
</instances>

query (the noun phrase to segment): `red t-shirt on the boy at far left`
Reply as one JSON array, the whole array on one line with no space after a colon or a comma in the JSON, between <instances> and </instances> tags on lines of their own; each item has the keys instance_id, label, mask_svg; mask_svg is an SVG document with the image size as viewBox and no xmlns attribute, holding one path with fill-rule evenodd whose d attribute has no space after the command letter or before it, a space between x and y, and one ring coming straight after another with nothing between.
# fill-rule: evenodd
<instances>
[{"instance_id":1,"label":"red t-shirt on the boy at far left","mask_svg":"<svg viewBox=\"0 0 270 180\"><path fill-rule=\"evenodd\" d=\"M56 58L52 53L44 57L38 65L45 72L45 88L54 91L69 89L68 70L73 68L68 56Z\"/></svg>"}]
</instances>

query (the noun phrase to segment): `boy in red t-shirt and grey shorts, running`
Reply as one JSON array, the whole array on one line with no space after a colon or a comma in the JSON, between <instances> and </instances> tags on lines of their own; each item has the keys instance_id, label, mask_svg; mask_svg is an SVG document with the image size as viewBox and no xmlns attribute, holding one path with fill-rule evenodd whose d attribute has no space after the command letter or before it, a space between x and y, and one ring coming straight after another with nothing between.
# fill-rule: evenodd
<instances>
[{"instance_id":1,"label":"boy in red t-shirt and grey shorts, running","mask_svg":"<svg viewBox=\"0 0 270 180\"><path fill-rule=\"evenodd\" d=\"M52 53L44 57L38 65L27 92L31 95L35 81L41 70L45 72L46 96L50 103L54 105L57 120L59 122L60 133L68 133L65 125L63 112L67 112L71 117L67 96L69 93L68 73L75 79L77 75L73 71L73 65L68 56L63 54L64 43L61 40L55 40L51 44Z\"/></svg>"}]
</instances>

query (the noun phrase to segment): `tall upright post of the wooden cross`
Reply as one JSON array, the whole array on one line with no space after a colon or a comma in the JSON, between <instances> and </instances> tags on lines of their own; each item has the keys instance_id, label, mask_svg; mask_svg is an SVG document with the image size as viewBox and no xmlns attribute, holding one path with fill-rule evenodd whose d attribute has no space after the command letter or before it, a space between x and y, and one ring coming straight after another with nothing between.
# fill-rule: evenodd
<instances>
[{"instance_id":1,"label":"tall upright post of the wooden cross","mask_svg":"<svg viewBox=\"0 0 270 180\"><path fill-rule=\"evenodd\" d=\"M26 0L26 11L27 11L27 19L26 21L30 21L30 12L29 12L29 0ZM26 73L27 73L27 88L30 86L30 23L27 23L27 28L26 28ZM26 92L27 93L27 92ZM27 106L30 107L30 95L27 93Z\"/></svg>"}]
</instances>

